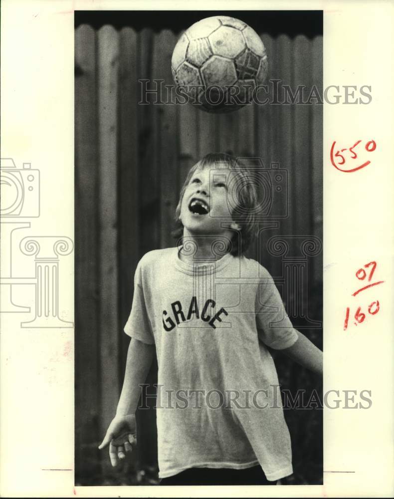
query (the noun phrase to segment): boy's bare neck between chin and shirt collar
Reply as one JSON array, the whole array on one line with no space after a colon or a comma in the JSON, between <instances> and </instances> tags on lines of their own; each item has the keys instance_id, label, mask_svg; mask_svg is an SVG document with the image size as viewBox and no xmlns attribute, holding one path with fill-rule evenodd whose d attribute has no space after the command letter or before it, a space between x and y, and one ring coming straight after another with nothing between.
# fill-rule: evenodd
<instances>
[{"instance_id":1,"label":"boy's bare neck between chin and shirt collar","mask_svg":"<svg viewBox=\"0 0 394 499\"><path fill-rule=\"evenodd\" d=\"M217 261L230 250L228 238L221 236L196 236L184 231L179 258L187 263Z\"/></svg>"}]
</instances>

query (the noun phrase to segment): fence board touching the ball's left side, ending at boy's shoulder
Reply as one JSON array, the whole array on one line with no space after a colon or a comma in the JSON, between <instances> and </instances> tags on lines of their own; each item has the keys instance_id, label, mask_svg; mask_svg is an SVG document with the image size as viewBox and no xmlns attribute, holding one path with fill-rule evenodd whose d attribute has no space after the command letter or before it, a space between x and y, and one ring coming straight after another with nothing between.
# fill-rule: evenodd
<instances>
[{"instance_id":1,"label":"fence board touching the ball's left side, ending at boy's shoulder","mask_svg":"<svg viewBox=\"0 0 394 499\"><path fill-rule=\"evenodd\" d=\"M164 85L173 84L171 56L176 37L168 29L156 36L155 70L164 79ZM160 246L169 248L174 241L171 231L174 226L174 213L177 206L178 189L178 150L177 150L177 106L169 102L158 106L159 133L159 172L160 172Z\"/></svg>"}]
</instances>

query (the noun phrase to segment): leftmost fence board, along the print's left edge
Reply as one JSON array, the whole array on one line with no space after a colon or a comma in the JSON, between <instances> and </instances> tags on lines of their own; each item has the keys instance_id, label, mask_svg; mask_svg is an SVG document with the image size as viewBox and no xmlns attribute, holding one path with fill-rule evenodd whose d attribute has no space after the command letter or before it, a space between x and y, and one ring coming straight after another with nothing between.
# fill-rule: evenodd
<instances>
[{"instance_id":1,"label":"leftmost fence board, along the print's left edge","mask_svg":"<svg viewBox=\"0 0 394 499\"><path fill-rule=\"evenodd\" d=\"M75 31L75 470L98 473L98 275L96 33ZM88 366L88 369L86 369ZM79 479L80 477L80 479Z\"/></svg>"}]
</instances>

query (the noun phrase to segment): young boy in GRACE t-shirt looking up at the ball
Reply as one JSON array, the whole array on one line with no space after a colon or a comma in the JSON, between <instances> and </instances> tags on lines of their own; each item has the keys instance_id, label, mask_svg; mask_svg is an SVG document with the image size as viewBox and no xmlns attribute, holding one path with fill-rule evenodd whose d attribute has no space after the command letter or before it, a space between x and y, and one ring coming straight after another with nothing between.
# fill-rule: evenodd
<instances>
[{"instance_id":1,"label":"young boy in GRACE t-shirt looking up at the ball","mask_svg":"<svg viewBox=\"0 0 394 499\"><path fill-rule=\"evenodd\" d=\"M176 248L138 263L131 336L116 411L100 449L113 466L135 442L134 413L154 349L162 485L275 484L291 475L290 436L266 345L322 373L322 352L296 331L268 271L243 256L258 193L248 169L209 154L188 174Z\"/></svg>"}]
</instances>

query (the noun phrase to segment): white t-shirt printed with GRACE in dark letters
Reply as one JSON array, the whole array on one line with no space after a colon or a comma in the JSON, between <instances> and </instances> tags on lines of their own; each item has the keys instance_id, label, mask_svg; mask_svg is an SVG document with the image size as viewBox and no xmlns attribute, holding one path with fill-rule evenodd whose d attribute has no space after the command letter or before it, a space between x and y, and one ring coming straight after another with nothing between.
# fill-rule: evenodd
<instances>
[{"instance_id":1,"label":"white t-shirt printed with GRACE in dark letters","mask_svg":"<svg viewBox=\"0 0 394 499\"><path fill-rule=\"evenodd\" d=\"M258 464L268 480L292 474L265 345L287 348L298 335L263 266L229 253L192 265L178 248L150 251L136 269L125 332L156 345L160 478Z\"/></svg>"}]
</instances>

